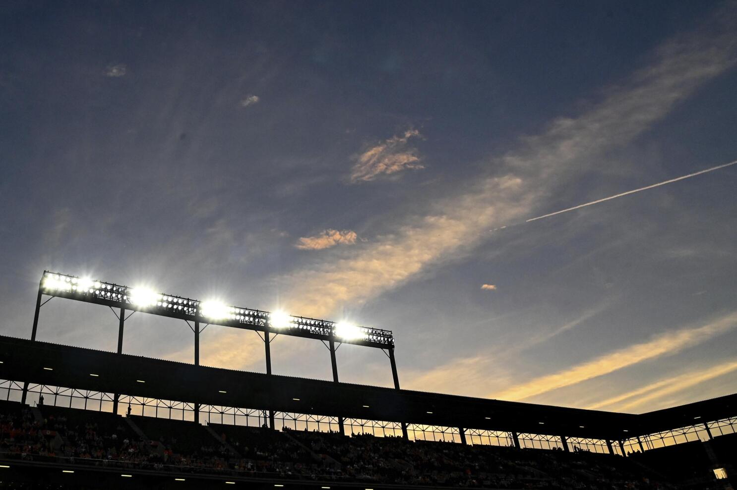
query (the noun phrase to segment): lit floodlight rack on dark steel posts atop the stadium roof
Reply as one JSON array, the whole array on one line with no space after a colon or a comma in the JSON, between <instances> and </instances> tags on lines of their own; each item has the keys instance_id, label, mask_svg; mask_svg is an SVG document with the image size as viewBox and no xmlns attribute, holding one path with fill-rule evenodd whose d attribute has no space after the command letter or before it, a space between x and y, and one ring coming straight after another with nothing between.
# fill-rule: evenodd
<instances>
[{"instance_id":1,"label":"lit floodlight rack on dark steel posts atop the stadium roof","mask_svg":"<svg viewBox=\"0 0 737 490\"><path fill-rule=\"evenodd\" d=\"M49 296L49 299L41 302L44 294ZM265 344L267 374L271 374L270 343L277 335L314 338L322 341L330 350L335 382L338 382L338 366L335 361L336 342L338 347L340 347L340 344L355 344L381 349L391 362L394 387L399 389L397 363L394 361L394 335L390 330L295 316L281 310L268 312L230 306L215 300L200 302L198 299L160 293L147 286L129 288L125 285L92 280L90 277L77 277L59 272L43 271L41 283L38 285L31 340L36 339L39 310L46 302L55 297L103 305L113 310L119 321L117 349L119 354L122 353L123 348L125 320L130 318L133 313L142 312L184 320L192 329L192 332L195 333L196 365L200 363L200 333L212 324L254 330ZM119 313L116 312L116 309L119 309ZM205 326L200 328L200 324ZM24 389L24 398L25 393L26 389ZM116 409L117 397L113 401L113 410L116 411Z\"/></svg>"}]
</instances>

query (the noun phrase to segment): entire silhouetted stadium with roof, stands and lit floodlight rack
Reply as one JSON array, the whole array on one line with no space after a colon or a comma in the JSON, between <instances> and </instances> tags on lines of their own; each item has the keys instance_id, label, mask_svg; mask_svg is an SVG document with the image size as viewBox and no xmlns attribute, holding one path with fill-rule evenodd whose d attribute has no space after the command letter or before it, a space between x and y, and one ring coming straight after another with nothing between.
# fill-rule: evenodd
<instances>
[{"instance_id":1,"label":"entire silhouetted stadium with roof, stands and lit floodlight rack","mask_svg":"<svg viewBox=\"0 0 737 490\"><path fill-rule=\"evenodd\" d=\"M116 308L118 352L36 341L43 296ZM123 354L137 311L192 322L195 364ZM259 332L267 373L199 366L202 324ZM334 380L271 374L282 334L323 341ZM343 342L383 349L395 387L340 383ZM0 378L9 488L727 489L737 468L737 394L635 415L402 390L386 330L48 271Z\"/></svg>"}]
</instances>

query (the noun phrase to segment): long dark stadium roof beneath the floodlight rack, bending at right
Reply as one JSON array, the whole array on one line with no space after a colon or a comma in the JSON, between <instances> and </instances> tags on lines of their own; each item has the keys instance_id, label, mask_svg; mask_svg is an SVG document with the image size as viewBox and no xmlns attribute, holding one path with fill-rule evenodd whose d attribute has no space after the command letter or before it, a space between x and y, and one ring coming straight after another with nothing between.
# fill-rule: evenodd
<instances>
[{"instance_id":1,"label":"long dark stadium roof beneath the floodlight rack, bending at right","mask_svg":"<svg viewBox=\"0 0 737 490\"><path fill-rule=\"evenodd\" d=\"M614 441L723 419L733 416L737 407L733 394L642 415L591 411L195 366L3 335L0 361L2 379L49 386L203 405Z\"/></svg>"}]
</instances>

